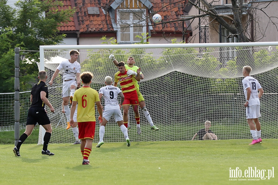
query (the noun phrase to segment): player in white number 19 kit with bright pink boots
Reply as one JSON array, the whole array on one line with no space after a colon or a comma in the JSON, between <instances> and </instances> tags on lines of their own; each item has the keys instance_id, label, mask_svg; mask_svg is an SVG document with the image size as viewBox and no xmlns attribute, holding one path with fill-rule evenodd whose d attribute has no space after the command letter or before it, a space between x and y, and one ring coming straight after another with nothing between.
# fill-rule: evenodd
<instances>
[{"instance_id":1,"label":"player in white number 19 kit with bright pink boots","mask_svg":"<svg viewBox=\"0 0 278 185\"><path fill-rule=\"evenodd\" d=\"M261 117L259 99L263 96L263 88L259 84L258 80L250 76L251 71L252 68L250 66L243 67L242 72L245 78L242 80L242 85L246 98L246 102L244 104L246 107L246 119L253 137L253 141L249 145L254 145L262 142L261 124L259 122L259 117ZM254 125L253 120L256 126Z\"/></svg>"}]
</instances>

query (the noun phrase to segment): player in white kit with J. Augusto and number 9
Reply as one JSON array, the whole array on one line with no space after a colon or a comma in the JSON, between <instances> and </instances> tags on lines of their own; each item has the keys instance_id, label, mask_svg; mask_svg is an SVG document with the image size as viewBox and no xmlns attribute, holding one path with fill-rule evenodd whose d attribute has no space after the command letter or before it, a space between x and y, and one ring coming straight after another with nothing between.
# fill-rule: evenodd
<instances>
[{"instance_id":1,"label":"player in white kit with J. Augusto and number 9","mask_svg":"<svg viewBox=\"0 0 278 185\"><path fill-rule=\"evenodd\" d=\"M126 140L126 145L130 146L130 140L128 138L127 128L124 126L123 115L121 113L121 106L124 102L124 94L118 87L112 85L112 78L110 76L105 77L105 87L100 88L99 90L99 99L104 98L104 111L103 111L103 121L100 123L99 127L99 143L97 148L103 145L103 136L105 132L105 126L111 116L114 117L115 121L118 123L121 131L124 134ZM120 104L118 102L118 95L121 97Z\"/></svg>"}]
</instances>

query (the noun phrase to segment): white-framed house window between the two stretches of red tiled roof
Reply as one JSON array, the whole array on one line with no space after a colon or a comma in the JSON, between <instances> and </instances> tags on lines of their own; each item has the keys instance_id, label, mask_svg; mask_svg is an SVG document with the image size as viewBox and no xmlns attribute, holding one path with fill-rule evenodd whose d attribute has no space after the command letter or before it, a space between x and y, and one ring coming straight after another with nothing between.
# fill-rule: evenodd
<instances>
[{"instance_id":1,"label":"white-framed house window between the two stretches of red tiled roof","mask_svg":"<svg viewBox=\"0 0 278 185\"><path fill-rule=\"evenodd\" d=\"M119 43L136 43L140 39L136 35L146 33L145 10L123 9L117 11L117 40Z\"/></svg>"}]
</instances>

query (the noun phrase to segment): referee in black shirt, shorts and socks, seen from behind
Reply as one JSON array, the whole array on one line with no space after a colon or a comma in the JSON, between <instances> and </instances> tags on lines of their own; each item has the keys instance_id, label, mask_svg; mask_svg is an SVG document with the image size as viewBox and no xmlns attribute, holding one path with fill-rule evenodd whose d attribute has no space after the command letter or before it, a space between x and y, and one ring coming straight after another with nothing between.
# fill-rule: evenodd
<instances>
[{"instance_id":1,"label":"referee in black shirt, shorts and socks, seen from behind","mask_svg":"<svg viewBox=\"0 0 278 185\"><path fill-rule=\"evenodd\" d=\"M32 87L31 91L31 99L32 102L31 107L28 110L28 116L27 116L27 122L26 122L26 130L25 132L20 136L19 141L15 148L13 149L15 156L20 157L19 149L22 143L27 139L28 136L32 134L32 131L38 123L39 125L42 125L45 129L44 134L44 146L41 151L43 155L54 155L52 152L47 150L48 142L51 137L52 128L50 124L50 120L47 116L47 113L44 109L45 105L47 105L50 108L50 111L54 113L53 106L48 101L48 88L45 84L45 81L47 79L46 72L44 70L39 72L39 82L36 83Z\"/></svg>"}]
</instances>

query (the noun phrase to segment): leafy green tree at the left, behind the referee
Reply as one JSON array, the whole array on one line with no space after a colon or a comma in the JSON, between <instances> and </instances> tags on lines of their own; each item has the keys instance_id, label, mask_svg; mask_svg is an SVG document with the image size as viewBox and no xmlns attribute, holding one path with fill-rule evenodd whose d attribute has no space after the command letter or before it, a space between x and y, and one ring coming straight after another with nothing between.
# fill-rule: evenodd
<instances>
[{"instance_id":1,"label":"leafy green tree at the left, behind the referee","mask_svg":"<svg viewBox=\"0 0 278 185\"><path fill-rule=\"evenodd\" d=\"M30 90L38 73L40 45L57 45L65 34L57 27L70 20L74 9L58 10L61 1L19 0L18 9L0 2L0 93L14 92L15 47L20 53L20 91Z\"/></svg>"}]
</instances>

